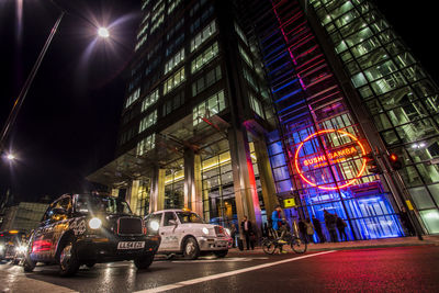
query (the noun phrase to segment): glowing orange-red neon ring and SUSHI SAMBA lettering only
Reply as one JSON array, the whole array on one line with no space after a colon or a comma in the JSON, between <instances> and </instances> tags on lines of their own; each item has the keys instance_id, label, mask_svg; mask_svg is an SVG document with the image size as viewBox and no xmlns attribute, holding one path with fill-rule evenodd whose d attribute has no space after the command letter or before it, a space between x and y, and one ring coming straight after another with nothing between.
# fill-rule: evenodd
<instances>
[{"instance_id":1,"label":"glowing orange-red neon ring and SUSHI SAMBA lettering only","mask_svg":"<svg viewBox=\"0 0 439 293\"><path fill-rule=\"evenodd\" d=\"M297 173L300 174L300 177L302 178L302 180L305 181L306 183L308 183L312 187L315 187L315 188L318 188L318 189L323 189L323 190L336 190L336 189L347 188L347 187L353 184L353 182L356 182L362 176L362 173L364 172L364 170L365 170L365 158L362 158L362 166L361 166L360 171L357 173L357 176L353 179L349 180L348 182L346 182L345 184L342 184L340 187L322 187L322 185L317 185L316 183L311 182L303 174L303 172L302 172L302 170L300 168L300 165L299 165L299 153L301 151L303 145L307 140L309 140L311 138L313 138L313 137L315 137L317 135L320 135L320 134L326 134L326 133L339 133L339 134L341 134L344 136L349 136L360 147L362 155L365 154L363 145L352 134L350 134L348 132L345 132L345 131L339 131L339 129L325 129L325 131L319 131L319 132L316 132L316 133L309 135L308 137L305 138L305 140L303 140L299 145L297 149L295 150L295 155L294 155L294 167L295 167ZM358 153L358 150L353 146L352 147L346 147L346 148L342 148L342 149L339 149L339 150L333 151L333 153L326 151L326 154L323 155L323 156L315 156L315 157L313 157L311 159L305 159L304 160L304 165L305 166L312 166L312 165L316 164L315 168L323 167L323 166L327 166L328 165L328 160L331 160L333 164L341 162L341 161L346 160L347 156L352 156L352 155L356 155L357 153Z\"/></svg>"}]
</instances>

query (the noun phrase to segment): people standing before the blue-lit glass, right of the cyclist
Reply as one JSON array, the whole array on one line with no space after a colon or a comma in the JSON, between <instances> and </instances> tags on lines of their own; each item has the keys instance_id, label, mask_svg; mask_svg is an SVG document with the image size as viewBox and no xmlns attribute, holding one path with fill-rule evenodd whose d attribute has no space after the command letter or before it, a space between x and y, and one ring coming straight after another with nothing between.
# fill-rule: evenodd
<instances>
[{"instance_id":1,"label":"people standing before the blue-lit glass, right of the cyclist","mask_svg":"<svg viewBox=\"0 0 439 293\"><path fill-rule=\"evenodd\" d=\"M331 214L328 211L324 210L325 225L329 233L329 240L331 243L348 241L348 235L346 233L346 227L348 226L346 222L339 217L337 214ZM302 238L306 243L314 241L314 234L317 234L318 243L326 243L327 239L325 234L323 233L322 223L314 215L312 217L313 222L309 218L305 221L299 221L299 232L302 235ZM338 235L337 235L338 230Z\"/></svg>"}]
</instances>

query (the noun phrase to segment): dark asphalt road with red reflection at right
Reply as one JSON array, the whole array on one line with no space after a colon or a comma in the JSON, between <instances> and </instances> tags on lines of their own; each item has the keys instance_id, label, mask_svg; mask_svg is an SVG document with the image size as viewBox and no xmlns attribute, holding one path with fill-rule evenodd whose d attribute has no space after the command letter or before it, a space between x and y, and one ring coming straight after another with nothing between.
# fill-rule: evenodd
<instances>
[{"instance_id":1,"label":"dark asphalt road with red reflection at right","mask_svg":"<svg viewBox=\"0 0 439 293\"><path fill-rule=\"evenodd\" d=\"M56 266L23 273L0 264L0 292L439 292L439 247L266 256L234 253L196 261L165 260L137 271L132 262L82 268L58 277Z\"/></svg>"}]
</instances>

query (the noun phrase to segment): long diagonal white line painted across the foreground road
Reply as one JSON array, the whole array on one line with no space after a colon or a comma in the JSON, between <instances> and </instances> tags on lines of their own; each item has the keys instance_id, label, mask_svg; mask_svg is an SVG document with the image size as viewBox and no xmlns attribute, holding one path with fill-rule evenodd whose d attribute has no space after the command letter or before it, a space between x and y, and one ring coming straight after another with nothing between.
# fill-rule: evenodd
<instances>
[{"instance_id":1,"label":"long diagonal white line painted across the foreground road","mask_svg":"<svg viewBox=\"0 0 439 293\"><path fill-rule=\"evenodd\" d=\"M249 271L260 270L260 269L264 269L264 268L269 268L269 267L273 267L273 266L278 266L278 264L282 264L282 263L286 263L286 262L291 262L291 261L296 261L296 260L301 260L301 259L305 259L305 258L317 257L317 256L322 256L322 255L326 255L326 253L330 253L330 252L335 252L335 251L336 250L329 250L329 251L302 256L302 257L297 257L297 258L290 258L290 259L284 259L284 260L274 261L274 262L270 262L270 263L258 264L255 267L249 267L249 268L239 269L239 270L235 270L235 271L223 272L223 273L196 278L196 279L192 279L192 280L188 280L188 281L177 282L177 283L169 284L169 285L162 285L162 286L151 288L151 289L147 289L147 290L140 290L140 291L136 291L135 293L165 292L168 290L179 289L179 288L183 288L187 285L193 285L193 284L212 281L212 280L216 280L216 279L221 279L221 278L225 278L225 277L236 275L236 274L245 273L245 272L249 272Z\"/></svg>"}]
</instances>

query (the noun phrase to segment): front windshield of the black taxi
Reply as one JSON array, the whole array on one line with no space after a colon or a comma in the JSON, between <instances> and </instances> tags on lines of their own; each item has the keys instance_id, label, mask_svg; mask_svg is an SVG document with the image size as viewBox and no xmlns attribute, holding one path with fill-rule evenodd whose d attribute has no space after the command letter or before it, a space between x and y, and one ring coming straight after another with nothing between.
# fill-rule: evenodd
<instances>
[{"instance_id":1,"label":"front windshield of the black taxi","mask_svg":"<svg viewBox=\"0 0 439 293\"><path fill-rule=\"evenodd\" d=\"M132 214L128 204L117 198L78 194L75 210L79 213Z\"/></svg>"}]
</instances>

